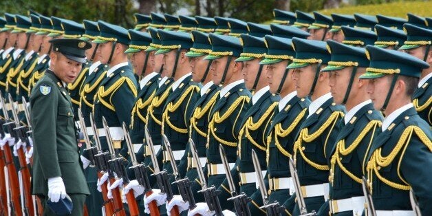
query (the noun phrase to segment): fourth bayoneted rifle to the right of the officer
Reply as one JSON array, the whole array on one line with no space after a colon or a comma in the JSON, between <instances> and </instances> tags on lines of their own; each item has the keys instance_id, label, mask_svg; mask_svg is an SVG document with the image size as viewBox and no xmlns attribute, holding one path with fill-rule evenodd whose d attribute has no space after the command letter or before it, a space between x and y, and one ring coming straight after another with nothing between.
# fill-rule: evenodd
<instances>
[{"instance_id":1,"label":"fourth bayoneted rifle to the right of the officer","mask_svg":"<svg viewBox=\"0 0 432 216\"><path fill-rule=\"evenodd\" d=\"M131 141L131 137L129 136L129 131L127 131L125 122L123 122L122 128L123 128L123 133L125 133L125 140L126 140L127 147L129 149L129 156L131 157L132 163L136 164L136 155L133 152L133 144ZM130 180L129 180L129 176L127 175L125 166L123 166L121 162L117 163L117 165L119 169L117 175L119 175L119 177L122 177L123 186L126 186L127 184L129 184ZM126 199L127 199L127 205L129 206L129 213L132 216L140 215L140 210L138 210L138 205L136 204L136 199L135 199L135 195L133 195L133 190L129 191L129 193L126 194Z\"/></svg>"}]
</instances>

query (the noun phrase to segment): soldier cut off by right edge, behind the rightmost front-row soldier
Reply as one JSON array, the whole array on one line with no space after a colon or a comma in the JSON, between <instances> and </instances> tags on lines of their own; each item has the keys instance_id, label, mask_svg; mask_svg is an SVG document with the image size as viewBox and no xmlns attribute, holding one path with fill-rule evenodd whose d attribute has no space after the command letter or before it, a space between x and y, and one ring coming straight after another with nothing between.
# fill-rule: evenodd
<instances>
[{"instance_id":1,"label":"soldier cut off by right edge, behind the rightmost front-row soldier","mask_svg":"<svg viewBox=\"0 0 432 216\"><path fill-rule=\"evenodd\" d=\"M405 24L404 29L407 30L408 39L400 50L429 64L420 74L418 87L413 94L413 105L420 118L432 126L432 30L411 24Z\"/></svg>"}]
</instances>

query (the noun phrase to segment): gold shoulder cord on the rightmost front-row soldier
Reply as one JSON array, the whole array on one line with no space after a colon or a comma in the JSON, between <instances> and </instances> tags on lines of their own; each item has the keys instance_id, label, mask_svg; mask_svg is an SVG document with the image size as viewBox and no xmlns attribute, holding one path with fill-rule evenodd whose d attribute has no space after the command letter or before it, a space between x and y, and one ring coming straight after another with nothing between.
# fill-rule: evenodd
<instances>
[{"instance_id":1,"label":"gold shoulder cord on the rightmost front-row soldier","mask_svg":"<svg viewBox=\"0 0 432 216\"><path fill-rule=\"evenodd\" d=\"M429 151L432 151L432 142L426 136L426 133L424 133L422 131L422 129L420 129L420 127L417 127L414 125L407 127L402 132L398 143L396 143L396 146L389 153L389 155L382 156L382 154L381 154L382 148L379 148L379 149L376 149L376 151L374 151L374 153L371 156L371 160L369 160L369 162L367 162L367 174L368 174L368 181L370 184L369 185L370 188L371 188L371 182L372 182L372 177L373 177L374 173L375 173L376 177L378 177L378 179L381 182L384 182L385 184L387 184L388 186L391 186L392 188L396 188L396 189L404 190L404 191L408 191L411 188L411 186L409 186L407 181L405 181L402 178L402 176L400 175L399 168L400 168L400 163L402 162L404 152L407 149L409 141L411 140L411 136L413 135L414 132L418 136L420 141L423 142L423 144L426 145L426 147L428 147ZM398 155L398 153L400 152L402 147L404 147L404 149L402 151L402 154L401 154L399 162L398 162L398 175L399 175L400 180L402 182L404 182L404 184L398 184L396 182L391 182L390 180L387 180L385 177L380 175L379 171L380 171L381 167L389 166L389 164L391 164L391 162L393 162L393 160L396 158L396 155Z\"/></svg>"}]
</instances>

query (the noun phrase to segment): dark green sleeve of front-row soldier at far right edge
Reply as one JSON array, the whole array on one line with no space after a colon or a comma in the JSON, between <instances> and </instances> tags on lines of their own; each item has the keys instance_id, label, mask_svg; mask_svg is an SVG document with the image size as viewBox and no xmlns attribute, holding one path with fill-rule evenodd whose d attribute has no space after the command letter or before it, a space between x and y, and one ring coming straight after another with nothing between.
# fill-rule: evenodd
<instances>
[{"instance_id":1,"label":"dark green sleeve of front-row soldier at far right edge","mask_svg":"<svg viewBox=\"0 0 432 216\"><path fill-rule=\"evenodd\" d=\"M413 134L403 155L399 171L418 197L422 215L432 215L432 187L427 183L432 179L431 167L431 149Z\"/></svg>"}]
</instances>

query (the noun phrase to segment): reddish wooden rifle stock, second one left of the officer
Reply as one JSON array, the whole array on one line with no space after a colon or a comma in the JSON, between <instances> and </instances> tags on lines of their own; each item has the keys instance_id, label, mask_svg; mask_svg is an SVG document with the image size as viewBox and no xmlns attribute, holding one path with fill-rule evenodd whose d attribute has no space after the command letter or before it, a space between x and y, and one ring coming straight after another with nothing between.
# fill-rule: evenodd
<instances>
[{"instance_id":1,"label":"reddish wooden rifle stock, second one left of the officer","mask_svg":"<svg viewBox=\"0 0 432 216\"><path fill-rule=\"evenodd\" d=\"M18 184L18 173L14 166L14 160L12 158L12 150L10 149L9 143L6 143L3 147L3 153L5 154L6 168L8 169L9 186L11 191L11 202L14 214L17 216L23 215L21 209L21 202L19 202L19 184Z\"/></svg>"}]
</instances>

